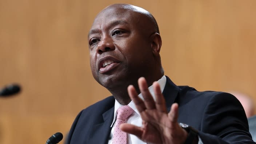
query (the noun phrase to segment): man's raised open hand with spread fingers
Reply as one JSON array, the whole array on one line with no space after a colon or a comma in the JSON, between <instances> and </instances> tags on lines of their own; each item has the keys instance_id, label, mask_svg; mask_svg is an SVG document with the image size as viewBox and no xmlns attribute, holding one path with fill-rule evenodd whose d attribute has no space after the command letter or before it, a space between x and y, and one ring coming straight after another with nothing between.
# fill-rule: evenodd
<instances>
[{"instance_id":1,"label":"man's raised open hand with spread fingers","mask_svg":"<svg viewBox=\"0 0 256 144\"><path fill-rule=\"evenodd\" d=\"M128 93L140 112L143 126L137 127L132 124L122 124L122 131L131 133L139 137L142 141L152 144L182 144L187 138L187 132L180 127L178 119L178 104L172 104L171 111L167 113L165 100L157 82L153 83L156 96L154 101L148 90L148 85L144 77L138 80L140 92L144 101L138 97L133 87L129 85Z\"/></svg>"}]
</instances>

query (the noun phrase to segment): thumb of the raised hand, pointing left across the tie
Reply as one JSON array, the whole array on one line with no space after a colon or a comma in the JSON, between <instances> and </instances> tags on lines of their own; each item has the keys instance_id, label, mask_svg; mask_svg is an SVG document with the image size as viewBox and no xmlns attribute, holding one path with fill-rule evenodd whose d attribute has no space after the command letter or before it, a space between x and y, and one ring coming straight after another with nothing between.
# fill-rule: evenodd
<instances>
[{"instance_id":1,"label":"thumb of the raised hand, pointing left across the tie","mask_svg":"<svg viewBox=\"0 0 256 144\"><path fill-rule=\"evenodd\" d=\"M132 135L135 135L137 137L139 137L141 139L142 134L143 134L143 129L140 127L137 127L135 125L132 124L121 124L119 127L122 131L126 132L126 133L131 133Z\"/></svg>"}]
</instances>

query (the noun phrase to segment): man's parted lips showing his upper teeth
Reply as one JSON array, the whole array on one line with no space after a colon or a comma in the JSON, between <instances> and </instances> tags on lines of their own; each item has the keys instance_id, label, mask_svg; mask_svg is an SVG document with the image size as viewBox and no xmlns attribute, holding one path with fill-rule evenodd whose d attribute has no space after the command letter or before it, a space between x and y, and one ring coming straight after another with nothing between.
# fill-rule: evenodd
<instances>
[{"instance_id":1,"label":"man's parted lips showing his upper teeth","mask_svg":"<svg viewBox=\"0 0 256 144\"><path fill-rule=\"evenodd\" d=\"M104 56L98 61L98 70L100 73L107 73L117 67L120 61L113 56Z\"/></svg>"}]
</instances>

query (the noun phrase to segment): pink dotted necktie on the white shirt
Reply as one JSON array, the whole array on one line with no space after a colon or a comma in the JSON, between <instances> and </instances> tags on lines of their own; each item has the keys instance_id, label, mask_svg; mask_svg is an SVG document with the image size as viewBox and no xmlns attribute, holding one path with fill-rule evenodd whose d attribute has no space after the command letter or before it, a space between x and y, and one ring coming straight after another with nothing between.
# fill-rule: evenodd
<instances>
[{"instance_id":1,"label":"pink dotted necktie on the white shirt","mask_svg":"<svg viewBox=\"0 0 256 144\"><path fill-rule=\"evenodd\" d=\"M133 109L124 105L117 109L116 122L113 132L112 144L127 144L127 133L121 131L119 126L127 122L127 118L133 113Z\"/></svg>"}]
</instances>

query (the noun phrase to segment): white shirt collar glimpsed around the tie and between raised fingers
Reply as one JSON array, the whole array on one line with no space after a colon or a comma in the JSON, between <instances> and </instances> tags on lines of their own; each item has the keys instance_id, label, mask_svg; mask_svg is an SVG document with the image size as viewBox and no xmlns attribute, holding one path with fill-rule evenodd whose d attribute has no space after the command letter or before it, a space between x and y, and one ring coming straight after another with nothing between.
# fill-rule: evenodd
<instances>
[{"instance_id":1,"label":"white shirt collar glimpsed around the tie and between raised fingers","mask_svg":"<svg viewBox=\"0 0 256 144\"><path fill-rule=\"evenodd\" d=\"M165 77L165 76L162 76L161 79L159 79L157 82L159 83L161 92L163 93L163 90L164 90L164 87L165 87L165 84L166 84L166 77ZM149 90L149 92L151 93L153 99L156 100L156 96L155 96L155 93L154 93L154 90L153 90L153 85L151 85L150 87L148 87L148 90ZM144 100L144 98L143 98L143 96L142 96L141 93L139 94L139 97L140 97L142 100ZM136 106L135 106L135 104L134 104L133 101L131 101L128 105L133 109L133 111L135 111L138 115L140 115L140 113L139 113L139 111L137 110L137 108L136 108ZM113 119L113 122L112 122L112 124L111 124L111 127L113 126L113 124L114 124L114 122L115 122L115 120L116 120L116 115L117 115L117 112L116 112L116 111L117 111L117 109L120 108L121 106L123 106L123 105L121 105L117 100L115 100L114 119Z\"/></svg>"}]
</instances>

